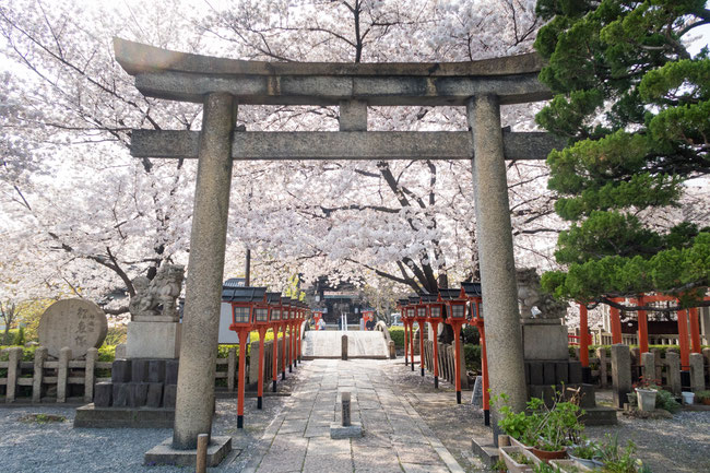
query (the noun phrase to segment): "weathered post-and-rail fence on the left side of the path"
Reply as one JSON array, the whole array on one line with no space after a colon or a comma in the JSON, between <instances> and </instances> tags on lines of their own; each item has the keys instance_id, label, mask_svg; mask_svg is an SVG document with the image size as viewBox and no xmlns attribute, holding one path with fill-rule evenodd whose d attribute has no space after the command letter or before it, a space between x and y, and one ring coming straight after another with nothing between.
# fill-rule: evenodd
<instances>
[{"instance_id":1,"label":"weathered post-and-rail fence on the left side of the path","mask_svg":"<svg viewBox=\"0 0 710 473\"><path fill-rule=\"evenodd\" d=\"M282 343L280 340L277 346L277 371L283 370L281 363ZM286 336L286 350L291 350L291 336ZM81 400L92 402L94 399L94 386L97 382L111 381L110 371L111 362L98 362L98 350L90 348L85 357L72 359L71 350L62 348L59 358L48 356L47 348L38 346L35 351L34 360L23 362L23 348L10 347L3 350L8 352L9 359L0 362L0 371L7 370L4 376L0 375L0 399L4 398L5 402L25 400L32 402L42 402L43 399L54 399L57 402L67 402L68 398L76 391L76 386L81 389ZM259 342L251 342L251 356L247 366L247 383L256 387L259 376ZM288 353L288 352L287 352ZM264 343L264 383L273 379L273 341ZM287 354L286 354L287 355ZM288 356L285 357L288 363ZM215 381L226 379L227 391L233 392L237 386L238 358L236 348L229 348L226 358L217 358ZM98 376L105 375L105 376ZM4 395L2 388L4 387ZM31 395L20 395L22 387L31 388ZM248 387L249 388L249 387ZM51 395L56 393L56 395Z\"/></svg>"}]
</instances>

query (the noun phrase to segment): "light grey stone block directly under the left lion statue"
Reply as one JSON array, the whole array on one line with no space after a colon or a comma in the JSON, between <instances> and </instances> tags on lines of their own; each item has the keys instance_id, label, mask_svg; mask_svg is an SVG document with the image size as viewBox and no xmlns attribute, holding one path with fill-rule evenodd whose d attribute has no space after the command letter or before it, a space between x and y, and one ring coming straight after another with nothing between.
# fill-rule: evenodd
<instances>
[{"instance_id":1,"label":"light grey stone block directly under the left lion statue","mask_svg":"<svg viewBox=\"0 0 710 473\"><path fill-rule=\"evenodd\" d=\"M177 358L180 355L180 323L128 323L127 358Z\"/></svg>"}]
</instances>

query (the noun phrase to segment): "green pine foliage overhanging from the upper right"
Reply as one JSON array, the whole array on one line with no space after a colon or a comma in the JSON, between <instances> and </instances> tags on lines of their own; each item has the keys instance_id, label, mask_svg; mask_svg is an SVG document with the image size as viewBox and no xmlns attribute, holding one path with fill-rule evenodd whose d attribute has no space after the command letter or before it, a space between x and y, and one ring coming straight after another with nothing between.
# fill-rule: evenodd
<instances>
[{"instance_id":1,"label":"green pine foliage overhanging from the upper right","mask_svg":"<svg viewBox=\"0 0 710 473\"><path fill-rule=\"evenodd\" d=\"M693 305L710 284L710 227L667 228L643 211L678 205L710 174L710 58L688 35L706 0L539 0L535 48L554 93L537 123L569 140L547 158L555 210L570 223L543 275L556 297L662 292Z\"/></svg>"}]
</instances>

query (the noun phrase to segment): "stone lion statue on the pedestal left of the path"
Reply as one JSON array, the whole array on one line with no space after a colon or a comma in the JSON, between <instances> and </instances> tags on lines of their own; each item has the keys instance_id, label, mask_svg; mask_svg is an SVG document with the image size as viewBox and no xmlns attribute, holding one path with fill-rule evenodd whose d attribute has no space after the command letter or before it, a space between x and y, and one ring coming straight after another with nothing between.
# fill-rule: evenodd
<instances>
[{"instance_id":1,"label":"stone lion statue on the pedestal left of the path","mask_svg":"<svg viewBox=\"0 0 710 473\"><path fill-rule=\"evenodd\" d=\"M184 277L185 267L179 264L164 265L153 281L145 276L135 277L135 295L128 305L132 318L163 316L177 321L176 301L182 288Z\"/></svg>"}]
</instances>

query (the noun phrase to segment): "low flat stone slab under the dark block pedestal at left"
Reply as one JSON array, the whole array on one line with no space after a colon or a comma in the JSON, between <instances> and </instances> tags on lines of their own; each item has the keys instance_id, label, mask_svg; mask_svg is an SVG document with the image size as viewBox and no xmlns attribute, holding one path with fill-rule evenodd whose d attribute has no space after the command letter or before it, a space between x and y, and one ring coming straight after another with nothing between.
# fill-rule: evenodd
<instances>
[{"instance_id":1,"label":"low flat stone slab under the dark block pedestal at left","mask_svg":"<svg viewBox=\"0 0 710 473\"><path fill-rule=\"evenodd\" d=\"M174 409L97 407L93 403L76 407L74 428L171 428Z\"/></svg>"}]
</instances>

